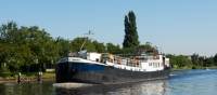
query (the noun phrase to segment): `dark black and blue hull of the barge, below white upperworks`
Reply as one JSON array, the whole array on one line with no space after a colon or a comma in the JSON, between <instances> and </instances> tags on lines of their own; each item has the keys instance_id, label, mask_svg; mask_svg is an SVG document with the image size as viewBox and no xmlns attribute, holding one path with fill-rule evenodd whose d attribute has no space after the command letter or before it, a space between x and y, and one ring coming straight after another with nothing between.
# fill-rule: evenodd
<instances>
[{"instance_id":1,"label":"dark black and blue hull of the barge, below white upperworks","mask_svg":"<svg viewBox=\"0 0 217 95\"><path fill-rule=\"evenodd\" d=\"M87 63L60 63L56 66L56 82L82 82L82 83L125 83L168 78L169 69L161 71L130 71Z\"/></svg>"}]
</instances>

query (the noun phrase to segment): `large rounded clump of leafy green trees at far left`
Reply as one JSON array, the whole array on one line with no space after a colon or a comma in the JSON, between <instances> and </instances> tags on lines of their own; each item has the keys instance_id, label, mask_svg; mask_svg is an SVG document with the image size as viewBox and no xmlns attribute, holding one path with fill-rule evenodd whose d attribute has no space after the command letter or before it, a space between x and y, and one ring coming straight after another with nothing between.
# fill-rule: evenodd
<instances>
[{"instance_id":1,"label":"large rounded clump of leafy green trees at far left","mask_svg":"<svg viewBox=\"0 0 217 95\"><path fill-rule=\"evenodd\" d=\"M30 68L36 64L44 69L44 64L56 60L56 56L60 56L53 51L55 45L52 37L37 26L17 27L14 22L2 25L0 44L1 69L8 68L12 72L36 70Z\"/></svg>"}]
</instances>

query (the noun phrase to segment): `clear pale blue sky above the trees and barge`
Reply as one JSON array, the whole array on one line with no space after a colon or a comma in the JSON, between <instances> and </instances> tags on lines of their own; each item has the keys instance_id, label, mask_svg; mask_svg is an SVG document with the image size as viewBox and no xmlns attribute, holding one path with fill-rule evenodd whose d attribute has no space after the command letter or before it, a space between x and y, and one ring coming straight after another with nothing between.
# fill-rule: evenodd
<instances>
[{"instance_id":1,"label":"clear pale blue sky above the trees and barge","mask_svg":"<svg viewBox=\"0 0 217 95\"><path fill-rule=\"evenodd\" d=\"M122 45L129 11L141 43L167 54L217 53L217 0L0 0L0 24L39 26L65 39L91 30L92 39Z\"/></svg>"}]
</instances>

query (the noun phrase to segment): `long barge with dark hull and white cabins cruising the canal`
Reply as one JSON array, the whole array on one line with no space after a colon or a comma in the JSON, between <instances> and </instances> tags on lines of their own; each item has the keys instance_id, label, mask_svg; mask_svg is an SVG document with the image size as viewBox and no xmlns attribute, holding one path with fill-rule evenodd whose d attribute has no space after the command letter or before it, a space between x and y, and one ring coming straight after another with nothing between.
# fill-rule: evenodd
<instances>
[{"instance_id":1,"label":"long barge with dark hull and white cabins cruising the canal","mask_svg":"<svg viewBox=\"0 0 217 95\"><path fill-rule=\"evenodd\" d=\"M128 57L108 53L71 53L58 62L56 83L114 84L166 79L169 58L163 54Z\"/></svg>"}]
</instances>

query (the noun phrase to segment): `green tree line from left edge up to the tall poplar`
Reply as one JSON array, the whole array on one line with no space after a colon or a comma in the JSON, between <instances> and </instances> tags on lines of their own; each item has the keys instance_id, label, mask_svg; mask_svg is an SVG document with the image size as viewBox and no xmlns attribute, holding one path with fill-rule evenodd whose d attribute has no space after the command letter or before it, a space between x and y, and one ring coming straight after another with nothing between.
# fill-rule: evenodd
<instances>
[{"instance_id":1,"label":"green tree line from left edge up to the tall poplar","mask_svg":"<svg viewBox=\"0 0 217 95\"><path fill-rule=\"evenodd\" d=\"M14 22L0 27L0 72L34 72L54 67L55 63L69 52L79 52L80 46L88 52L120 53L119 45L104 44L87 38L65 40L52 38L37 26L18 27Z\"/></svg>"}]
</instances>

